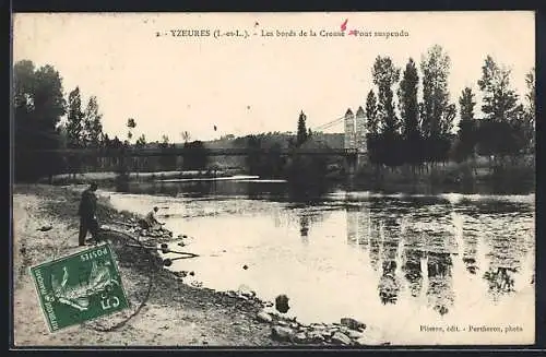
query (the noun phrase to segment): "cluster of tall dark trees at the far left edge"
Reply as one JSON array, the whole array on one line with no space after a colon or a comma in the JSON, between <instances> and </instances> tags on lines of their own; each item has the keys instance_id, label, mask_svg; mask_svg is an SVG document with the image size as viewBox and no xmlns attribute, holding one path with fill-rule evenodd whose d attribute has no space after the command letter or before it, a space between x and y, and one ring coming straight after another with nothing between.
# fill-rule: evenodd
<instances>
[{"instance_id":1,"label":"cluster of tall dark trees at the far left edge","mask_svg":"<svg viewBox=\"0 0 546 357\"><path fill-rule=\"evenodd\" d=\"M80 88L64 98L62 79L51 66L36 68L29 60L14 66L14 176L16 180L36 180L67 168L81 167L81 157L62 157L58 148L98 148L105 142L97 98L82 106ZM66 121L61 119L66 116ZM114 145L123 145L119 139ZM85 163L97 165L96 157Z\"/></svg>"}]
</instances>

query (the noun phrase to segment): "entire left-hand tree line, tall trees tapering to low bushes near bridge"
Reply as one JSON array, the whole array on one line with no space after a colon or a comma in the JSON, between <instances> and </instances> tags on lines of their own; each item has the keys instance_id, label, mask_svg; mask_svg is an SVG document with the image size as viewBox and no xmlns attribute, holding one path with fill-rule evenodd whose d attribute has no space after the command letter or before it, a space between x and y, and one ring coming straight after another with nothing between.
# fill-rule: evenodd
<instances>
[{"instance_id":1,"label":"entire left-hand tree line, tall trees tapering to low bushes near bridge","mask_svg":"<svg viewBox=\"0 0 546 357\"><path fill-rule=\"evenodd\" d=\"M29 60L14 64L14 174L17 181L33 181L44 176L59 172L75 172L82 169L203 169L207 157L204 144L189 142L189 133L183 132L183 146L192 148L192 155L182 159L161 156L156 159L124 157L123 148L175 147L164 135L162 141L147 143L141 134L134 143L136 120L127 120L127 138L110 139L103 131L103 115L97 98L91 96L86 105L82 103L82 92L75 87L64 97L62 79L51 66L36 68ZM64 120L63 120L64 119ZM121 150L119 157L99 159L95 156L60 156L50 150L58 148L102 148ZM199 155L201 153L202 155Z\"/></svg>"}]
</instances>

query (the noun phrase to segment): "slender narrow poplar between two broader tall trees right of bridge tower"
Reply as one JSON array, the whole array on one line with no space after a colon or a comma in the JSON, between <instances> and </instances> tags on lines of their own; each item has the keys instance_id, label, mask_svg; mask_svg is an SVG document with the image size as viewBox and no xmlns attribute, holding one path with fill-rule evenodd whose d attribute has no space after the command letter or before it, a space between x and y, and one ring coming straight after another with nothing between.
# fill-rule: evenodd
<instances>
[{"instance_id":1,"label":"slender narrow poplar between two broader tall trees right of bridge tower","mask_svg":"<svg viewBox=\"0 0 546 357\"><path fill-rule=\"evenodd\" d=\"M402 81L400 82L400 115L402 117L402 135L405 142L405 159L410 164L419 163L420 133L419 133L419 106L417 102L417 87L419 75L417 67L410 58Z\"/></svg>"}]
</instances>

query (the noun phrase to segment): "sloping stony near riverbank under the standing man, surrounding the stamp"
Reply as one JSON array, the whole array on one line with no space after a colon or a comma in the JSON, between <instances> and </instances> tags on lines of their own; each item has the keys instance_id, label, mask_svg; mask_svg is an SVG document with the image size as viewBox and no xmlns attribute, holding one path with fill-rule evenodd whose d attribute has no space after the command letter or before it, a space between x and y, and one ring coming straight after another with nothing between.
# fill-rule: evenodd
<instances>
[{"instance_id":1,"label":"sloping stony near riverbank under the standing man, surrounding the stamp","mask_svg":"<svg viewBox=\"0 0 546 357\"><path fill-rule=\"evenodd\" d=\"M219 293L189 286L180 274L154 263L161 257L153 257L150 250L128 247L121 238L109 240L117 254L132 310L50 334L38 307L28 266L81 249L78 247L78 219L74 215L79 199L80 192L72 188L14 187L16 346L354 346L383 343L373 328L353 319L304 325L274 312L271 302L260 301L252 291ZM105 199L99 202L97 216L111 229L129 228L131 235L138 234L133 229L134 215L115 211ZM46 225L50 229L40 231L39 227ZM177 239L166 234L143 241L153 246ZM190 247L186 250L191 251ZM131 318L131 314L134 316ZM127 323L120 324L119 329L98 331L99 325L116 326L123 319Z\"/></svg>"}]
</instances>

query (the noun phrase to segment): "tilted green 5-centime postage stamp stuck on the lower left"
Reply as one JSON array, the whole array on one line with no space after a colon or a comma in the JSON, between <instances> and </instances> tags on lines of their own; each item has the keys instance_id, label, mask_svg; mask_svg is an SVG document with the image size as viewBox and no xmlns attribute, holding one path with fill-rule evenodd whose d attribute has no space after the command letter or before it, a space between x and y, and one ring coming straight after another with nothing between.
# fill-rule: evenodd
<instances>
[{"instance_id":1,"label":"tilted green 5-centime postage stamp stuck on the lower left","mask_svg":"<svg viewBox=\"0 0 546 357\"><path fill-rule=\"evenodd\" d=\"M129 307L108 243L31 267L50 332Z\"/></svg>"}]
</instances>

